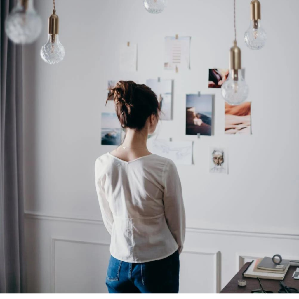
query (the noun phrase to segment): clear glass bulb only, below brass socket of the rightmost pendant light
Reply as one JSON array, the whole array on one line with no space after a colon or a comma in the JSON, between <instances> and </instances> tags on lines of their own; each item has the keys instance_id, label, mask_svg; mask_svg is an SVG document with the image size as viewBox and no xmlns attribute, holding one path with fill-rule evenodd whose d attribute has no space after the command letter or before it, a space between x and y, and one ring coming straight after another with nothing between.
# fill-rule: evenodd
<instances>
[{"instance_id":1,"label":"clear glass bulb only, below brass socket of the rightmost pendant light","mask_svg":"<svg viewBox=\"0 0 299 299\"><path fill-rule=\"evenodd\" d=\"M251 50L263 48L267 40L265 29L260 26L260 20L251 20L248 30L244 34L246 46Z\"/></svg>"}]
</instances>

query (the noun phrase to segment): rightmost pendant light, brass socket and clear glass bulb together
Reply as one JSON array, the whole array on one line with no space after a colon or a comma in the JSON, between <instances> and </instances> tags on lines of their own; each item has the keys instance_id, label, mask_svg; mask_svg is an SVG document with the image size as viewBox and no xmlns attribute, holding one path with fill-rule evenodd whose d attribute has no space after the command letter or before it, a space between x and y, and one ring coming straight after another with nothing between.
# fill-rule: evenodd
<instances>
[{"instance_id":1,"label":"rightmost pendant light, brass socket and clear glass bulb together","mask_svg":"<svg viewBox=\"0 0 299 299\"><path fill-rule=\"evenodd\" d=\"M260 25L261 4L258 0L250 3L250 26L244 34L246 46L251 50L263 48L267 40L267 33Z\"/></svg>"}]
</instances>

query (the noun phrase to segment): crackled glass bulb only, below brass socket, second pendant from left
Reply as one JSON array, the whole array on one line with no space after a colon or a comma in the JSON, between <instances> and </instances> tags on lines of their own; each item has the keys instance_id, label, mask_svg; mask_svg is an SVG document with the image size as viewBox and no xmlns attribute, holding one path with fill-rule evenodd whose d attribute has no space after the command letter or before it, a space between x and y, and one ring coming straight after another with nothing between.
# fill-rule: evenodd
<instances>
[{"instance_id":1,"label":"crackled glass bulb only, below brass socket, second pendant from left","mask_svg":"<svg viewBox=\"0 0 299 299\"><path fill-rule=\"evenodd\" d=\"M42 46L40 56L49 63L54 64L63 60L65 50L62 43L59 41L58 34L49 34L48 41Z\"/></svg>"}]
</instances>

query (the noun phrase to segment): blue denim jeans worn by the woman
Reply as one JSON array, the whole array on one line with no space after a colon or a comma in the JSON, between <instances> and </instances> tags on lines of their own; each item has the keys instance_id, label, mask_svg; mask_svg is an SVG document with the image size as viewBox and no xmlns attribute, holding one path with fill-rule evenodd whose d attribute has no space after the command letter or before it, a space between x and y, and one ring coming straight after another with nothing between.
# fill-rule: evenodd
<instances>
[{"instance_id":1,"label":"blue denim jeans worn by the woman","mask_svg":"<svg viewBox=\"0 0 299 299\"><path fill-rule=\"evenodd\" d=\"M179 252L145 263L110 257L106 276L109 293L178 293Z\"/></svg>"}]
</instances>

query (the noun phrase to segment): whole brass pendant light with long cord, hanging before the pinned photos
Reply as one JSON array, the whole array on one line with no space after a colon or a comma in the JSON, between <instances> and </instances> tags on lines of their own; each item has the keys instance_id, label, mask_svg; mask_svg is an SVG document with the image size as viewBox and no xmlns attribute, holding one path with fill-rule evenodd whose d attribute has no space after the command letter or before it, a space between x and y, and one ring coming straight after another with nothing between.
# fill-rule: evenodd
<instances>
[{"instance_id":1,"label":"whole brass pendant light with long cord, hanging before the pinned photos","mask_svg":"<svg viewBox=\"0 0 299 299\"><path fill-rule=\"evenodd\" d=\"M239 105L244 102L249 93L241 69L241 49L237 46L236 35L236 0L234 0L234 45L229 51L229 74L227 80L222 84L221 91L224 100L231 105Z\"/></svg>"}]
</instances>

